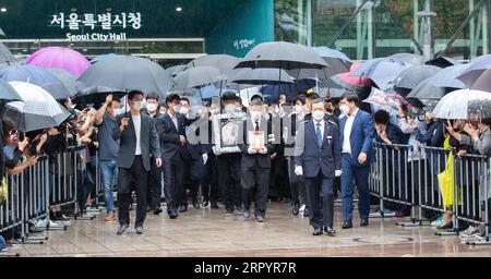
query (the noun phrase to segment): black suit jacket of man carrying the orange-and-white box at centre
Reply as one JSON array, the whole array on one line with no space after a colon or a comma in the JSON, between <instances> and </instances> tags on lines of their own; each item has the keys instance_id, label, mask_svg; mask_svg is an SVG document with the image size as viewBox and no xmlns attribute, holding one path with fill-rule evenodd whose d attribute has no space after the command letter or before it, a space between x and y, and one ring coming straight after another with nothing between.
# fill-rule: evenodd
<instances>
[{"instance_id":1,"label":"black suit jacket of man carrying the orange-and-white box at centre","mask_svg":"<svg viewBox=\"0 0 491 279\"><path fill-rule=\"evenodd\" d=\"M267 154L249 154L249 144L248 144L248 136L249 131L254 131L254 123L250 118L248 118L243 122L243 143L240 144L240 149L242 150L242 168L251 168L255 163L258 163L263 169L270 169L271 168L271 154L275 153L275 145L273 144L274 134L273 134L273 124L271 121L265 120L264 118L261 119L260 122L260 130L264 132L264 146L267 148Z\"/></svg>"}]
</instances>

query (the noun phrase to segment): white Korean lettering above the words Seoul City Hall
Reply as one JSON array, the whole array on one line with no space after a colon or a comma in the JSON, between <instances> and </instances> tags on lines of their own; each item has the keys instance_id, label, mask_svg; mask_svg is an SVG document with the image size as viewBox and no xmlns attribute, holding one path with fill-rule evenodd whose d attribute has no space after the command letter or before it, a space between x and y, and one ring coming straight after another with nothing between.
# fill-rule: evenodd
<instances>
[{"instance_id":1,"label":"white Korean lettering above the words Seoul City Hall","mask_svg":"<svg viewBox=\"0 0 491 279\"><path fill-rule=\"evenodd\" d=\"M111 31L113 27L127 29L129 26L135 31L142 28L142 13L111 14L108 12L103 14L84 13L83 15L70 13L67 15L65 13L53 14L49 26L61 29L68 26L71 31L79 31L81 25L91 29L100 27L104 31Z\"/></svg>"}]
</instances>

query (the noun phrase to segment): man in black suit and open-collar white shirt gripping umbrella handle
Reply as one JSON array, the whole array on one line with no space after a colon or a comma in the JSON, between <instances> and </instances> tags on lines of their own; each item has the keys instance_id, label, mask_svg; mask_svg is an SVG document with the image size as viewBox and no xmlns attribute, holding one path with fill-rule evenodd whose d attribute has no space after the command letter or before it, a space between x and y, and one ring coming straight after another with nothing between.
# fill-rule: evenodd
<instances>
[{"instance_id":1,"label":"man in black suit and open-collar white shirt gripping umbrella handle","mask_svg":"<svg viewBox=\"0 0 491 279\"><path fill-rule=\"evenodd\" d=\"M157 167L161 166L160 145L155 131L154 120L141 113L143 93L133 90L128 95L130 111L117 117L118 125L112 132L112 138L120 141L117 165L118 173L118 209L120 228L118 234L123 234L130 227L129 207L131 204L131 185L136 192L137 234L143 234L143 222L146 217L146 194L148 191L148 172L151 157L155 158Z\"/></svg>"}]
</instances>

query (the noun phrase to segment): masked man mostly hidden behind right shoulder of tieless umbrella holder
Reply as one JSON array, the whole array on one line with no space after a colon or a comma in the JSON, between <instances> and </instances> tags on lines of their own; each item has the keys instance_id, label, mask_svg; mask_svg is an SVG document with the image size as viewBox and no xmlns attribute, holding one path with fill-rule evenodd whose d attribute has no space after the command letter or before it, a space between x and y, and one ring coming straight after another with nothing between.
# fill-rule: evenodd
<instances>
[{"instance_id":1,"label":"masked man mostly hidden behind right shoulder of tieless umbrella holder","mask_svg":"<svg viewBox=\"0 0 491 279\"><path fill-rule=\"evenodd\" d=\"M156 121L160 117L158 108L158 95L156 93L149 93L145 97L146 109L145 112ZM157 167L155 160L152 161L151 174L148 177L148 207L154 210L155 215L161 213L161 167Z\"/></svg>"}]
</instances>

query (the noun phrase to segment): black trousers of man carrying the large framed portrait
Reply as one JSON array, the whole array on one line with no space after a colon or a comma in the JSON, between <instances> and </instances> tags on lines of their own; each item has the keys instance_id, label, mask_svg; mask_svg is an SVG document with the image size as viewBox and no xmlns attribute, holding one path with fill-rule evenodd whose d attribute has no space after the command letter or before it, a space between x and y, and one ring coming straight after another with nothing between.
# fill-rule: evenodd
<instances>
[{"instance_id":1,"label":"black trousers of man carrying the large framed portrait","mask_svg":"<svg viewBox=\"0 0 491 279\"><path fill-rule=\"evenodd\" d=\"M241 154L224 154L217 156L218 184L225 198L225 208L240 206L240 165Z\"/></svg>"}]
</instances>

